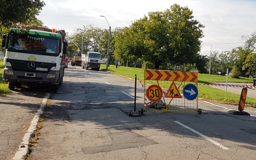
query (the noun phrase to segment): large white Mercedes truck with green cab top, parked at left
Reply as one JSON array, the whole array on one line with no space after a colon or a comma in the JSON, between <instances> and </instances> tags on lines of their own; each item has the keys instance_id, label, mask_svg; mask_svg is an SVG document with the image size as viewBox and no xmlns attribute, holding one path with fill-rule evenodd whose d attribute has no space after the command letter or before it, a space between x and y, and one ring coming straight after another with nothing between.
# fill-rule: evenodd
<instances>
[{"instance_id":1,"label":"large white Mercedes truck with green cab top, parked at left","mask_svg":"<svg viewBox=\"0 0 256 160\"><path fill-rule=\"evenodd\" d=\"M21 83L47 83L56 91L63 82L67 53L65 30L25 26L11 28L3 35L6 47L3 80L10 90Z\"/></svg>"}]
</instances>

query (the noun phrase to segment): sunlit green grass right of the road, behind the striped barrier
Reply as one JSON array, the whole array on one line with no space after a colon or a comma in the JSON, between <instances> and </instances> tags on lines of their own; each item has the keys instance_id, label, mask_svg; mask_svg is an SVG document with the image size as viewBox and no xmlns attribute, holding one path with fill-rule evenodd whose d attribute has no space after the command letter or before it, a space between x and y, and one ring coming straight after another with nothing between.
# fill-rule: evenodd
<instances>
[{"instance_id":1,"label":"sunlit green grass right of the road, behind the striped barrier","mask_svg":"<svg viewBox=\"0 0 256 160\"><path fill-rule=\"evenodd\" d=\"M124 77L128 78L135 78L135 74L140 80L144 81L144 70L139 68L132 68L132 67L124 67L120 66L117 67L114 65L110 65L108 68L109 73L123 75ZM106 65L101 65L101 70L106 71ZM216 83L216 82L226 82L226 76L221 75L207 75L207 74L198 74L198 82L199 83ZM236 82L236 83L252 83L251 78L228 78L228 82ZM180 85L176 83L176 85ZM169 86L161 85L163 88L169 88ZM224 101L224 102L231 102L231 103L238 103L240 100L240 94L227 92L225 93L224 90L217 89L210 86L198 85L199 90L199 98L209 99L209 100L216 100L216 101ZM246 104L256 104L256 99L251 97L246 97Z\"/></svg>"}]
</instances>

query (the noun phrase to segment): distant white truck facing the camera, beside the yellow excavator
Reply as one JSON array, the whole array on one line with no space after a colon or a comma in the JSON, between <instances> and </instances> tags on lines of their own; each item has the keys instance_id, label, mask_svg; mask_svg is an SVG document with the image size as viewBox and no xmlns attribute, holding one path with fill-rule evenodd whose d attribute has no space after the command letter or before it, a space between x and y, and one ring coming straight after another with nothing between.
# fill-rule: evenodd
<instances>
[{"instance_id":1,"label":"distant white truck facing the camera, beside the yellow excavator","mask_svg":"<svg viewBox=\"0 0 256 160\"><path fill-rule=\"evenodd\" d=\"M101 67L101 64L104 64L107 62L107 58L103 58L99 52L87 52L86 54L82 54L82 69L88 70L88 68L91 68L92 70L99 71L99 68Z\"/></svg>"}]
</instances>

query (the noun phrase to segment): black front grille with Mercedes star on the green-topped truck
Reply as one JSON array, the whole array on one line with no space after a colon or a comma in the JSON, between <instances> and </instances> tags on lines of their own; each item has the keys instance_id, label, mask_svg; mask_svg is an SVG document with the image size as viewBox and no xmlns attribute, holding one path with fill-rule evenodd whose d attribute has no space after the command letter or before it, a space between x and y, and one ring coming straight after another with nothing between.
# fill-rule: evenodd
<instances>
[{"instance_id":1,"label":"black front grille with Mercedes star on the green-topped truck","mask_svg":"<svg viewBox=\"0 0 256 160\"><path fill-rule=\"evenodd\" d=\"M56 63L45 63L45 62L35 62L35 61L23 61L18 59L7 59L7 62L10 62L12 65L12 69L15 71L25 71L25 72L34 72L34 73L49 73L52 67L56 67ZM29 68L28 64L32 62L34 67ZM39 68L47 68L47 71L37 71L36 67Z\"/></svg>"}]
</instances>

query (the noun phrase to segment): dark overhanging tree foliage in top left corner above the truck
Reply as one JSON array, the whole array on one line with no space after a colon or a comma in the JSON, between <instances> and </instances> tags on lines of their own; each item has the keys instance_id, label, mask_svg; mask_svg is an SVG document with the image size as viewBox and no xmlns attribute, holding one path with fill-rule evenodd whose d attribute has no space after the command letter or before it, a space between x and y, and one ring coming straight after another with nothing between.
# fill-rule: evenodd
<instances>
[{"instance_id":1,"label":"dark overhanging tree foliage in top left corner above the truck","mask_svg":"<svg viewBox=\"0 0 256 160\"><path fill-rule=\"evenodd\" d=\"M0 0L0 26L28 22L45 6L41 0Z\"/></svg>"}]
</instances>

